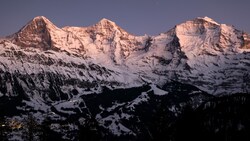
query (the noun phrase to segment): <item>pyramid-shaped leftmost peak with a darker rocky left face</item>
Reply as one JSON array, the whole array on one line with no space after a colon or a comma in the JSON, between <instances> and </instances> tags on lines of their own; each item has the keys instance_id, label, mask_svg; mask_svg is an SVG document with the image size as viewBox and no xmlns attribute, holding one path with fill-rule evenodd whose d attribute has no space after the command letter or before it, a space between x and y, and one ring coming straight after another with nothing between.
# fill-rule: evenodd
<instances>
[{"instance_id":1,"label":"pyramid-shaped leftmost peak with a darker rocky left face","mask_svg":"<svg viewBox=\"0 0 250 141\"><path fill-rule=\"evenodd\" d=\"M56 27L43 16L35 17L11 37L13 43L20 47L41 50L83 50L83 45L74 34Z\"/></svg>"}]
</instances>

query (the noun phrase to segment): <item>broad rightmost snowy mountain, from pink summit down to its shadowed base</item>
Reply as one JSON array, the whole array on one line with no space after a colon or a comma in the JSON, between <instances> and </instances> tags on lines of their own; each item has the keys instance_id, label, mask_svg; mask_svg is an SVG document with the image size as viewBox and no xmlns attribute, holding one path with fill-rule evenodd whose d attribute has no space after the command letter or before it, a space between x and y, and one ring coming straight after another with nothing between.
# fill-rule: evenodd
<instances>
[{"instance_id":1,"label":"broad rightmost snowy mountain, from pink summit down to its shadowed base","mask_svg":"<svg viewBox=\"0 0 250 141\"><path fill-rule=\"evenodd\" d=\"M247 82L238 79L249 79L249 53L241 50L247 44L242 32L207 17L177 25L175 32L186 56L186 70L178 72L179 81L211 94L227 93L228 89L231 93L249 91ZM238 91L240 87L244 90Z\"/></svg>"}]
</instances>

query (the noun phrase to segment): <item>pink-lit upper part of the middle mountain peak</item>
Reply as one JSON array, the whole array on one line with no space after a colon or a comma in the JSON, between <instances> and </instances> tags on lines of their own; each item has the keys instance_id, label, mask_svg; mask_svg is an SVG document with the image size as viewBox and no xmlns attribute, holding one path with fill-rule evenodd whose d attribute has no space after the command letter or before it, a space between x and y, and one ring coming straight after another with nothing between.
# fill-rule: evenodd
<instances>
[{"instance_id":1,"label":"pink-lit upper part of the middle mountain peak","mask_svg":"<svg viewBox=\"0 0 250 141\"><path fill-rule=\"evenodd\" d=\"M63 30L75 34L85 46L86 54L92 58L123 65L125 60L138 50L145 49L148 37L130 35L114 22L102 19L90 27L64 27Z\"/></svg>"}]
</instances>

